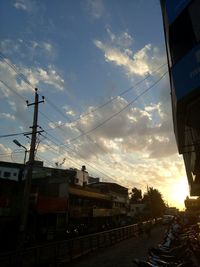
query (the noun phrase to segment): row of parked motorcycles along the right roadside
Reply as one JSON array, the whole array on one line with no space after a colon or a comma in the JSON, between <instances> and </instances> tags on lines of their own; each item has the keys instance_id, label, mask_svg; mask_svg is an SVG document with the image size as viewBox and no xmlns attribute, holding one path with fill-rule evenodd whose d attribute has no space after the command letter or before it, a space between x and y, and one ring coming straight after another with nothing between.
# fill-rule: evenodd
<instances>
[{"instance_id":1,"label":"row of parked motorcycles along the right roadside","mask_svg":"<svg viewBox=\"0 0 200 267\"><path fill-rule=\"evenodd\" d=\"M198 224L183 225L174 217L163 242L149 248L148 260L134 259L133 263L138 267L200 267Z\"/></svg>"}]
</instances>

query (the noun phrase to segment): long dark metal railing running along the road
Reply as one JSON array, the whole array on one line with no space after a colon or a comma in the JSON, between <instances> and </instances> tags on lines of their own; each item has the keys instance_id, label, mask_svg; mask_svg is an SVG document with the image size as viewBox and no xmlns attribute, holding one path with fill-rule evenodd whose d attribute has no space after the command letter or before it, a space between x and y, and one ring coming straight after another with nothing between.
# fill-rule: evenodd
<instances>
[{"instance_id":1,"label":"long dark metal railing running along the road","mask_svg":"<svg viewBox=\"0 0 200 267\"><path fill-rule=\"evenodd\" d=\"M144 227L146 223L143 222ZM45 243L20 251L5 253L0 255L0 266L32 267L48 263L51 263L51 266L59 266L99 248L112 246L117 242L133 237L137 231L137 224L133 224L75 239Z\"/></svg>"}]
</instances>

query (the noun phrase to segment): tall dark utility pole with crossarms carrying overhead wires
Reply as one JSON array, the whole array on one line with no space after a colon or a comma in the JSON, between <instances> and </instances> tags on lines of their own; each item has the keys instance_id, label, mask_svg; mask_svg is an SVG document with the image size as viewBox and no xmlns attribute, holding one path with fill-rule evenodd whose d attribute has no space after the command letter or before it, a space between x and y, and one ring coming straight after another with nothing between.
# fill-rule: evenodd
<instances>
[{"instance_id":1,"label":"tall dark utility pole with crossarms carrying overhead wires","mask_svg":"<svg viewBox=\"0 0 200 267\"><path fill-rule=\"evenodd\" d=\"M37 138L37 127L38 127L38 104L44 102L44 96L42 96L42 100L39 101L39 96L37 93L37 88L35 88L35 102L29 103L28 100L26 101L27 106L34 105L34 114L33 114L33 125L30 127L32 128L31 133L31 145L30 145L30 153L29 153L29 161L27 166L25 167L25 186L24 186L24 197L23 197L23 206L22 206L22 215L21 215L21 224L20 224L20 233L21 233L21 244L23 245L25 234L26 234L26 226L27 226L27 219L28 219L28 212L29 212L29 199L30 199L30 192L31 192L31 181L32 181L32 171L33 165L35 160L35 146L36 146L36 138ZM43 131L39 131L43 132Z\"/></svg>"}]
</instances>

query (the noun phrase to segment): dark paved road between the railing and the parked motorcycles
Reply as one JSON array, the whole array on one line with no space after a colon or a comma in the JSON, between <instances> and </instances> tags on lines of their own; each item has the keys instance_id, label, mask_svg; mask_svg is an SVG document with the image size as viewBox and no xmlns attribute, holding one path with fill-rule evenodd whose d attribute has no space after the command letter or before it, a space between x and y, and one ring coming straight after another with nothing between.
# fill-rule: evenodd
<instances>
[{"instance_id":1,"label":"dark paved road between the railing and the parked motorcycles","mask_svg":"<svg viewBox=\"0 0 200 267\"><path fill-rule=\"evenodd\" d=\"M156 246L162 241L165 228L157 226L152 230L151 237L133 237L109 248L100 249L93 254L87 255L73 263L68 263L68 267L131 267L134 266L134 258L146 259L148 248ZM64 267L64 265L63 265Z\"/></svg>"}]
</instances>

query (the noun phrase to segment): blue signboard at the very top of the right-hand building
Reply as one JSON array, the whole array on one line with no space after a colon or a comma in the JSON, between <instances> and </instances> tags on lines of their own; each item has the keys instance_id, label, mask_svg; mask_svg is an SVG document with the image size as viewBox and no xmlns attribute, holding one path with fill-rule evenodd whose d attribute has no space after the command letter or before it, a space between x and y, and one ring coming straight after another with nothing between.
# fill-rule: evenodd
<instances>
[{"instance_id":1,"label":"blue signboard at the very top of the right-hand building","mask_svg":"<svg viewBox=\"0 0 200 267\"><path fill-rule=\"evenodd\" d=\"M182 12L182 10L190 2L191 0L166 0L165 1L169 24L171 24L176 19L176 17Z\"/></svg>"}]
</instances>

